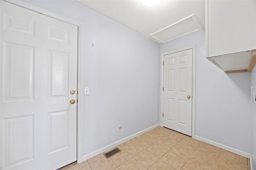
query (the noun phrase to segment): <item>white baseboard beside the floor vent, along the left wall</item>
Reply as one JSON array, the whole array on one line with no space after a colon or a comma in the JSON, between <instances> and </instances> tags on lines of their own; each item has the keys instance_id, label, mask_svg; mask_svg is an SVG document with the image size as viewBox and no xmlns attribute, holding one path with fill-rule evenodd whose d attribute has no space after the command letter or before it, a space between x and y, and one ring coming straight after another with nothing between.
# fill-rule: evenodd
<instances>
[{"instance_id":1,"label":"white baseboard beside the floor vent, along the left wall","mask_svg":"<svg viewBox=\"0 0 256 170\"><path fill-rule=\"evenodd\" d=\"M126 141L128 141L130 139L132 139L132 138L135 138L136 136L139 136L139 135L141 135L141 134L143 134L145 132L148 132L149 130L152 130L153 128L156 128L158 126L159 126L159 123L156 124L156 125L153 125L152 127L148 127L148 128L146 128L144 130L141 130L141 131L139 131L137 133L134 133L134 134L132 134L130 136L122 138L121 140L113 142L113 143L111 143L111 144L109 144L107 146L99 148L98 150L95 150L95 151L93 151L93 152L91 152L89 154L86 154L86 155L82 156L82 161L88 160L88 159L90 159L90 158L92 158L92 157L94 157L94 156L96 156L98 154L101 154L102 152L105 152L105 151L107 151L107 150L109 150L111 148L114 148L114 147L116 147L116 146L118 146L118 145L120 145L120 144L122 144L122 143L124 143L124 142L126 142Z\"/></svg>"}]
</instances>

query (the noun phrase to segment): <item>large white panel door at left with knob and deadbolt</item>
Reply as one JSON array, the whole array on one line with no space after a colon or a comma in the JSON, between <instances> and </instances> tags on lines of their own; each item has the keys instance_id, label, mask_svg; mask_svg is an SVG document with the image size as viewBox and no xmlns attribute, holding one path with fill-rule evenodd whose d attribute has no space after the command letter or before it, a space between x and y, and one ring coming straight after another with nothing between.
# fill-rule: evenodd
<instances>
[{"instance_id":1,"label":"large white panel door at left with knob and deadbolt","mask_svg":"<svg viewBox=\"0 0 256 170\"><path fill-rule=\"evenodd\" d=\"M77 27L4 1L0 27L0 169L76 161Z\"/></svg>"}]
</instances>

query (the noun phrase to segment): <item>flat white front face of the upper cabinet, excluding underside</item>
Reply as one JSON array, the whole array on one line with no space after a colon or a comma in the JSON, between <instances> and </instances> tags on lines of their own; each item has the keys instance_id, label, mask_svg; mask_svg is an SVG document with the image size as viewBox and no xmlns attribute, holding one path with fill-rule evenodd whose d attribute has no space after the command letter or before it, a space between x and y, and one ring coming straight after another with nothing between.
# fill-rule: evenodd
<instances>
[{"instance_id":1,"label":"flat white front face of the upper cabinet, excluding underside","mask_svg":"<svg viewBox=\"0 0 256 170\"><path fill-rule=\"evenodd\" d=\"M255 8L255 0L208 1L209 57L256 48Z\"/></svg>"}]
</instances>

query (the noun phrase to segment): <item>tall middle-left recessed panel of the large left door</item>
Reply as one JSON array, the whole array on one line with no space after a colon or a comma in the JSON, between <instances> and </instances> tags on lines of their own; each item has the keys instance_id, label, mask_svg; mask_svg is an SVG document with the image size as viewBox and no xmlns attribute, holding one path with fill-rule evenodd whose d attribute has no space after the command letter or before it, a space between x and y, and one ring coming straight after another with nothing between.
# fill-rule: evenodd
<instances>
[{"instance_id":1,"label":"tall middle-left recessed panel of the large left door","mask_svg":"<svg viewBox=\"0 0 256 170\"><path fill-rule=\"evenodd\" d=\"M4 101L34 99L34 47L4 42Z\"/></svg>"}]
</instances>

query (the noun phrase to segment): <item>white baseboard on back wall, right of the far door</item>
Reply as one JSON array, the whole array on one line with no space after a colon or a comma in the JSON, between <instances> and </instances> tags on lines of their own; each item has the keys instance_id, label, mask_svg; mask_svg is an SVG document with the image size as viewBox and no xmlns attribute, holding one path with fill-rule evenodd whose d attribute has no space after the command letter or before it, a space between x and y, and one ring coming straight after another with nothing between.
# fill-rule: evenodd
<instances>
[{"instance_id":1,"label":"white baseboard on back wall, right of the far door","mask_svg":"<svg viewBox=\"0 0 256 170\"><path fill-rule=\"evenodd\" d=\"M202 142L211 144L211 145L216 146L216 147L218 147L218 148L222 148L222 149L227 150L227 151L229 151L229 152L233 152L233 153L238 154L238 155L240 155L240 156L244 156L244 157L246 157L246 158L250 158L250 154L248 154L248 153L246 153L246 152L244 152L244 151L242 151L242 150L238 150L238 149L232 148L232 147L230 147L230 146L226 146L226 145L224 145L224 144L220 144L220 143L218 143L218 142L214 142L214 141L212 141L212 140L208 140L208 139L206 139L206 138L202 138L202 137L200 137L200 136L195 136L195 137L196 137L197 140L200 140L200 141L202 141ZM251 161L250 161L250 162L251 162ZM251 167L252 167L252 166L251 166Z\"/></svg>"}]
</instances>

